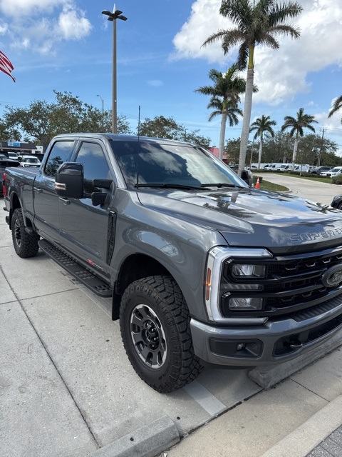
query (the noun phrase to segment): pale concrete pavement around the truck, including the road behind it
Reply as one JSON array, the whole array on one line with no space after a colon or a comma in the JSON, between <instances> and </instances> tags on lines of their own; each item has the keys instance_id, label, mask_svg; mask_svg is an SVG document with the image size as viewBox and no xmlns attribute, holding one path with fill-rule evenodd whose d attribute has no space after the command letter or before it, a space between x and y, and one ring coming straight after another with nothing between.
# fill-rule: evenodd
<instances>
[{"instance_id":1,"label":"pale concrete pavement around the truck, including the road behind it","mask_svg":"<svg viewBox=\"0 0 342 457\"><path fill-rule=\"evenodd\" d=\"M304 187L308 181L286 179L296 195L310 193L324 204L342 193L333 184L315 183L313 190ZM118 322L110 319L110 300L43 253L16 256L5 216L1 457L335 455L326 448L342 436L342 333L325 348L328 355L308 355L301 366L252 374L206 369L197 381L162 395L130 366ZM276 385L265 389L266 383Z\"/></svg>"}]
</instances>

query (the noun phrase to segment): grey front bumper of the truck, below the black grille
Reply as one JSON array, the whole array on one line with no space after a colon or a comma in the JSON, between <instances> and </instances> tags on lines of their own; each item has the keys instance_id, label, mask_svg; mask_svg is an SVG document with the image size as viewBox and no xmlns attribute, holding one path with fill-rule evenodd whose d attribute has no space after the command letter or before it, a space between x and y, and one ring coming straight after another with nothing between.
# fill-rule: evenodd
<instances>
[{"instance_id":1,"label":"grey front bumper of the truck, below the black grille","mask_svg":"<svg viewBox=\"0 0 342 457\"><path fill-rule=\"evenodd\" d=\"M341 332L342 298L331 300L289 318L252 325L213 326L190 321L195 354L208 363L262 366L289 361L320 346Z\"/></svg>"}]
</instances>

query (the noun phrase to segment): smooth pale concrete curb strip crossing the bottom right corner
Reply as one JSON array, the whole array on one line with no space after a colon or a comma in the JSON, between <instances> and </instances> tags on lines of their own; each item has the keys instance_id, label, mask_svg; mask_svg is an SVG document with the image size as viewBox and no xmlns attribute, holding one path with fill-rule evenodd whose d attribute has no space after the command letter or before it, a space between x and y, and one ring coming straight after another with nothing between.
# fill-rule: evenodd
<instances>
[{"instance_id":1,"label":"smooth pale concrete curb strip crossing the bottom right corner","mask_svg":"<svg viewBox=\"0 0 342 457\"><path fill-rule=\"evenodd\" d=\"M261 457L306 457L342 423L342 395L328 403Z\"/></svg>"}]
</instances>

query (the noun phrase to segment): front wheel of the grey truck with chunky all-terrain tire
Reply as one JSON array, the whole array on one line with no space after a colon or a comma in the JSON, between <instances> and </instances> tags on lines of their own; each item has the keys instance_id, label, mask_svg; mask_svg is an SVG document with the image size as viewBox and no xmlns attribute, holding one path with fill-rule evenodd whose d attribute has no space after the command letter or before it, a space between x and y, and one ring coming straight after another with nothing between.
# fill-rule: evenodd
<instances>
[{"instance_id":1,"label":"front wheel of the grey truck with chunky all-terrain tire","mask_svg":"<svg viewBox=\"0 0 342 457\"><path fill-rule=\"evenodd\" d=\"M140 378L155 391L176 391L202 371L189 322L182 292L168 276L140 279L123 294L120 330L125 351Z\"/></svg>"}]
</instances>

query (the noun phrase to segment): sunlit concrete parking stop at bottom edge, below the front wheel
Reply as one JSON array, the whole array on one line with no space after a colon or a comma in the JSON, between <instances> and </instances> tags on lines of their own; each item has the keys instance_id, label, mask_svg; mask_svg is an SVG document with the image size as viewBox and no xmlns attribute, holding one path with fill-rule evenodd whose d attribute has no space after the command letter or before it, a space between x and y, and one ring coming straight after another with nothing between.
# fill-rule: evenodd
<instances>
[{"instance_id":1,"label":"sunlit concrete parking stop at bottom edge, below the front wheel","mask_svg":"<svg viewBox=\"0 0 342 457\"><path fill-rule=\"evenodd\" d=\"M180 433L175 423L169 416L163 416L88 454L88 457L155 457L179 441Z\"/></svg>"}]
</instances>

